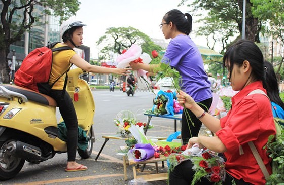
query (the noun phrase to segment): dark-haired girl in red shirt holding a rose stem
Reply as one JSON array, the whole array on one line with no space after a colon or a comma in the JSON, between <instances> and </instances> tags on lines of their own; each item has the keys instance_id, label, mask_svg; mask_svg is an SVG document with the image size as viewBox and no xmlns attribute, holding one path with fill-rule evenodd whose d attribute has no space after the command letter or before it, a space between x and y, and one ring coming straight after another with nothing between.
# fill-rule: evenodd
<instances>
[{"instance_id":1,"label":"dark-haired girl in red shirt holding a rose stem","mask_svg":"<svg viewBox=\"0 0 284 185\"><path fill-rule=\"evenodd\" d=\"M180 104L185 104L200 121L212 132L214 137L198 136L190 138L188 147L198 143L199 147L223 153L227 172L223 184L265 184L265 177L248 146L252 141L268 172L271 174L270 159L263 150L268 137L275 134L275 125L270 101L263 94L248 95L255 89L264 92L263 55L251 41L240 40L231 45L223 57L223 64L228 69L227 78L233 90L239 91L232 97L232 108L227 116L220 120L204 110L184 92L177 95ZM240 153L240 147L243 153ZM194 175L191 161L177 165L169 175L170 184L190 184ZM211 184L206 178L198 184Z\"/></svg>"}]
</instances>

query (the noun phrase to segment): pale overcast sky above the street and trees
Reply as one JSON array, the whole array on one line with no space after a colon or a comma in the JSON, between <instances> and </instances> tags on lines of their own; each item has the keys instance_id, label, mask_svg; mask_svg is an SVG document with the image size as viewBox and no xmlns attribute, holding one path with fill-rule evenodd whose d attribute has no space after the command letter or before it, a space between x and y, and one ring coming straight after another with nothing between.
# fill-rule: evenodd
<instances>
[{"instance_id":1,"label":"pale overcast sky above the street and trees","mask_svg":"<svg viewBox=\"0 0 284 185\"><path fill-rule=\"evenodd\" d=\"M96 42L109 27L131 26L151 38L164 39L159 28L164 14L171 9L179 9L183 13L189 10L185 5L177 6L180 0L81 0L80 2L80 10L73 18L87 24L83 27L83 44L91 47L91 57L97 57ZM194 34L191 34L191 38L195 42L200 42L200 38L196 38ZM204 45L204 42L196 44Z\"/></svg>"}]
</instances>

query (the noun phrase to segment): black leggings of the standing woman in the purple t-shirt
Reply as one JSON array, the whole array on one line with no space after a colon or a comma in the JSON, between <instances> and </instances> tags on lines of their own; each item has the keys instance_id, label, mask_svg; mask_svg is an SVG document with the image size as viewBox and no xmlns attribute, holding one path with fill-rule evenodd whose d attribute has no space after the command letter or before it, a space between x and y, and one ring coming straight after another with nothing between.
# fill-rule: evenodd
<instances>
[{"instance_id":1,"label":"black leggings of the standing woman in the purple t-shirt","mask_svg":"<svg viewBox=\"0 0 284 185\"><path fill-rule=\"evenodd\" d=\"M198 104L204 110L207 111L210 108L211 104L212 104L212 100L213 100L213 98L209 98L209 99L206 99L204 101L201 101ZM183 116L182 116L182 140L183 140L183 144L184 145L188 143L188 140L191 137L198 136L200 127L202 125L202 122L199 119L197 119L196 116L189 109L187 109L187 112L189 114L189 117L190 117L191 121L194 123L194 126L192 125L192 123L191 123L191 121L189 119L188 120L186 119L186 118L188 118L188 116L186 117L186 112L184 110L183 111ZM188 127L188 124L189 124L189 127ZM190 131L191 131L192 135L190 134Z\"/></svg>"}]
</instances>

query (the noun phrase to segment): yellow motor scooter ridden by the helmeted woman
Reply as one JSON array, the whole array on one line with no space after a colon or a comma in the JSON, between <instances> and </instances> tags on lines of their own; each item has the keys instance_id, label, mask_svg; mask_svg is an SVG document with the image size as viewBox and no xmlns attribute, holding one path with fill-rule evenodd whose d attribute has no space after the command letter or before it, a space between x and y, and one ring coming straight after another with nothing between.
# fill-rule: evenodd
<instances>
[{"instance_id":1,"label":"yellow motor scooter ridden by the helmeted woman","mask_svg":"<svg viewBox=\"0 0 284 185\"><path fill-rule=\"evenodd\" d=\"M77 149L83 159L91 156L95 141L93 95L88 83L79 78L85 73L80 68L71 69L66 86L79 127L86 134L87 147ZM54 99L26 88L0 85L0 180L15 177L25 161L38 164L67 152L57 124Z\"/></svg>"}]
</instances>

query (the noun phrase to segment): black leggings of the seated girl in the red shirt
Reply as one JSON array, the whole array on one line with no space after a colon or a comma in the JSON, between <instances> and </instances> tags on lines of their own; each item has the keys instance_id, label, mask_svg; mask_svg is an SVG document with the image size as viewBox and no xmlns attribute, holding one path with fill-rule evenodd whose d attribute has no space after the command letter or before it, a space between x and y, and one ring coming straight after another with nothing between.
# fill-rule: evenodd
<instances>
[{"instance_id":1,"label":"black leggings of the seated girl in the red shirt","mask_svg":"<svg viewBox=\"0 0 284 185\"><path fill-rule=\"evenodd\" d=\"M181 164L177 165L172 172L169 172L169 185L189 185L193 180L193 175L195 173L192 170L193 164L190 160L184 161ZM200 179L201 181L195 183L195 185L207 185L207 184L214 184L209 182L209 180L205 177ZM244 182L242 179L238 180L236 178L231 177L230 175L226 174L225 181L223 181L223 185L231 185L232 180L235 181L237 185L250 185L251 183Z\"/></svg>"}]
</instances>

